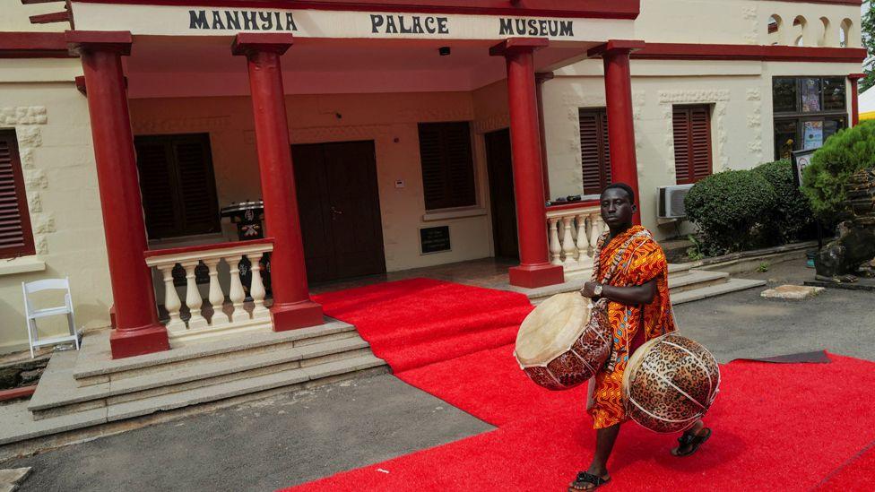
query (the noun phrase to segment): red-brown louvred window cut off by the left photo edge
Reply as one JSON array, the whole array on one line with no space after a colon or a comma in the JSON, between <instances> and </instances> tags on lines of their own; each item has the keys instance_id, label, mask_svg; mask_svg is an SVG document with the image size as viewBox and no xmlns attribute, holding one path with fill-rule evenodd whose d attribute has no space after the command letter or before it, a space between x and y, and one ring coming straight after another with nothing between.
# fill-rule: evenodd
<instances>
[{"instance_id":1,"label":"red-brown louvred window cut off by the left photo edge","mask_svg":"<svg viewBox=\"0 0 875 492\"><path fill-rule=\"evenodd\" d=\"M34 253L18 139L0 130L0 258Z\"/></svg>"}]
</instances>

